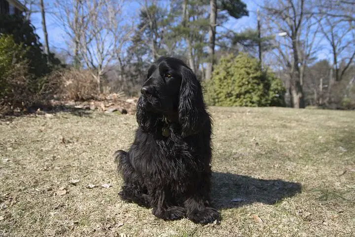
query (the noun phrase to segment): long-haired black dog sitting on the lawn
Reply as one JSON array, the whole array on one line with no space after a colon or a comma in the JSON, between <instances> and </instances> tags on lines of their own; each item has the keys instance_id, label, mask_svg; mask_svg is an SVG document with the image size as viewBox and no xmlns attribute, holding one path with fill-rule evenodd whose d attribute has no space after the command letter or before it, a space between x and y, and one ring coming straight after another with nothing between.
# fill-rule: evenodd
<instances>
[{"instance_id":1,"label":"long-haired black dog sitting on the lawn","mask_svg":"<svg viewBox=\"0 0 355 237\"><path fill-rule=\"evenodd\" d=\"M119 195L164 220L219 219L210 206L212 121L200 82L181 60L161 57L141 93L135 140L128 152L115 153L124 179Z\"/></svg>"}]
</instances>

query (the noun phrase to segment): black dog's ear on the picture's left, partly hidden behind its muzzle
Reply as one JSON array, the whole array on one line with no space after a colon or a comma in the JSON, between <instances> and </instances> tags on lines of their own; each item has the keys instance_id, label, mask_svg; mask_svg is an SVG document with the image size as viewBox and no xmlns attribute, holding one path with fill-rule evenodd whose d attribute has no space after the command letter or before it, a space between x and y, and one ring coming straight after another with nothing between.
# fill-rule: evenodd
<instances>
[{"instance_id":1,"label":"black dog's ear on the picture's left, partly hidden behind its muzzle","mask_svg":"<svg viewBox=\"0 0 355 237\"><path fill-rule=\"evenodd\" d=\"M158 122L158 116L152 112L146 111L143 107L143 98L140 96L137 102L136 119L138 125L143 131L155 131Z\"/></svg>"}]
</instances>

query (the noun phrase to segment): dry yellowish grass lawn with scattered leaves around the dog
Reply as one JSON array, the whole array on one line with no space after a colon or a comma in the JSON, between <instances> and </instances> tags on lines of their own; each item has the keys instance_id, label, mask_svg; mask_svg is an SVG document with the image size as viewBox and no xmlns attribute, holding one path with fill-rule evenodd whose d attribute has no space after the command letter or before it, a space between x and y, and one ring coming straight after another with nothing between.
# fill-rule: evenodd
<instances>
[{"instance_id":1,"label":"dry yellowish grass lawn with scattered leaves around the dog","mask_svg":"<svg viewBox=\"0 0 355 237\"><path fill-rule=\"evenodd\" d=\"M0 120L0 237L355 236L355 112L210 111L219 225L119 199L134 116L59 113Z\"/></svg>"}]
</instances>

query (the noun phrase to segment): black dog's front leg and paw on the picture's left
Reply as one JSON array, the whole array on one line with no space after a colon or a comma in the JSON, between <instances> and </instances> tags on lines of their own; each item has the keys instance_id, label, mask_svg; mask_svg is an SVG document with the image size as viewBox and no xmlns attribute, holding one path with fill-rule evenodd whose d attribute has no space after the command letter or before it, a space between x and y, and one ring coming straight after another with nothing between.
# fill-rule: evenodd
<instances>
[{"instance_id":1,"label":"black dog's front leg and paw on the picture's left","mask_svg":"<svg viewBox=\"0 0 355 237\"><path fill-rule=\"evenodd\" d=\"M159 189L154 192L152 198L152 213L163 220L177 220L185 216L185 208L171 205L170 195L166 191Z\"/></svg>"}]
</instances>

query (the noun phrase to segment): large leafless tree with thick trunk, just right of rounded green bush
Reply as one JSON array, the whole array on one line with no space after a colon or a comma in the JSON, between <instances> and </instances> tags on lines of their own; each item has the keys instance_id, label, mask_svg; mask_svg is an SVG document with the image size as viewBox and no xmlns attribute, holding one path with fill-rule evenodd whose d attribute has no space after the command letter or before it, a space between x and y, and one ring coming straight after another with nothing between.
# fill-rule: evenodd
<instances>
[{"instance_id":1,"label":"large leafless tree with thick trunk, just right of rounded green bush","mask_svg":"<svg viewBox=\"0 0 355 237\"><path fill-rule=\"evenodd\" d=\"M277 44L277 52L282 58L289 78L291 105L304 108L303 83L307 65L317 51L316 40L319 24L314 21L308 9L312 6L305 0L266 1L261 6L263 19L268 31L273 34L286 33L284 40Z\"/></svg>"}]
</instances>

